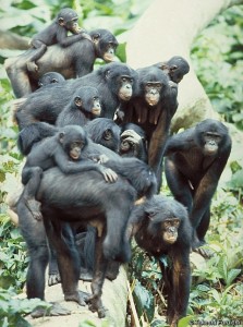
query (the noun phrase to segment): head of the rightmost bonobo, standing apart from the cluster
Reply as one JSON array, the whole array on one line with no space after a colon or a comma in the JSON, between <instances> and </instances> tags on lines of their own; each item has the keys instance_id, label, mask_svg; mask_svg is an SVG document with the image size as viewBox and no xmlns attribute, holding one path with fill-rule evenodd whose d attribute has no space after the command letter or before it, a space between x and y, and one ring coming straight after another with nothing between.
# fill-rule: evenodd
<instances>
[{"instance_id":1,"label":"head of the rightmost bonobo, standing apart from the cluster","mask_svg":"<svg viewBox=\"0 0 243 327\"><path fill-rule=\"evenodd\" d=\"M219 156L228 137L228 129L217 120L206 119L196 125L195 135L205 156Z\"/></svg>"}]
</instances>

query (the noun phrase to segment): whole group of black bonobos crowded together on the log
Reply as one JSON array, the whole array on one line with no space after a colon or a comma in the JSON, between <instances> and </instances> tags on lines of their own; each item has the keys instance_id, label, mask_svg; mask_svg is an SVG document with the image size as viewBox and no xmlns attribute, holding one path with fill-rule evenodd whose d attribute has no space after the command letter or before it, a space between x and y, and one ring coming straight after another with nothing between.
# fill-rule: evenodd
<instances>
[{"instance_id":1,"label":"whole group of black bonobos crowded together on the log","mask_svg":"<svg viewBox=\"0 0 243 327\"><path fill-rule=\"evenodd\" d=\"M190 252L205 244L231 138L211 119L169 136L189 63L174 56L133 70L112 62L117 47L109 31L87 33L63 9L5 61L26 156L14 209L29 253L27 296L44 300L49 264L50 286L61 282L66 301L104 317L105 277L113 280L131 259L135 238L158 258L168 323L177 326L187 308ZM93 70L96 58L107 63ZM159 194L162 167L174 198ZM80 278L92 280L92 294L78 291ZM53 305L50 314L69 311Z\"/></svg>"}]
</instances>

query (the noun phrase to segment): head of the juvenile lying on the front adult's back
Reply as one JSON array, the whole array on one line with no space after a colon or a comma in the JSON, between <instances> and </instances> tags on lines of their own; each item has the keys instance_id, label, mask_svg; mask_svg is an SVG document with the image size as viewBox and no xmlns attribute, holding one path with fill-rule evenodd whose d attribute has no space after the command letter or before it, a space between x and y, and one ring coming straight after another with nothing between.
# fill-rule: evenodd
<instances>
[{"instance_id":1,"label":"head of the juvenile lying on the front adult's back","mask_svg":"<svg viewBox=\"0 0 243 327\"><path fill-rule=\"evenodd\" d=\"M74 161L81 159L82 150L87 146L87 134L78 125L66 125L58 133L58 140L65 154Z\"/></svg>"}]
</instances>

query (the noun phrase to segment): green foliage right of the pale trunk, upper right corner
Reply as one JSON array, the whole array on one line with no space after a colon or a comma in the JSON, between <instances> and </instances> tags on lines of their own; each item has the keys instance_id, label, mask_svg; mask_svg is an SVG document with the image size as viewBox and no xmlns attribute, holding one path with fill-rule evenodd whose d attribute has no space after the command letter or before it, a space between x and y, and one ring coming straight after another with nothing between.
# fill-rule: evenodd
<instances>
[{"instance_id":1,"label":"green foliage right of the pale trunk, upper right corner","mask_svg":"<svg viewBox=\"0 0 243 327\"><path fill-rule=\"evenodd\" d=\"M243 130L243 5L219 15L196 38L192 59L214 108Z\"/></svg>"}]
</instances>

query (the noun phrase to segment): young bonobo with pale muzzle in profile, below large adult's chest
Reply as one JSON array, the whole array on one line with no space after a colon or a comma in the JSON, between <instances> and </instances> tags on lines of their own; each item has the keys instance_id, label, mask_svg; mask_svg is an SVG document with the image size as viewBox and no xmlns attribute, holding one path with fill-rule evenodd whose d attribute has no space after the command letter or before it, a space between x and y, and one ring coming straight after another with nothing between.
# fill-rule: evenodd
<instances>
[{"instance_id":1,"label":"young bonobo with pale muzzle in profile, below large adult's chest","mask_svg":"<svg viewBox=\"0 0 243 327\"><path fill-rule=\"evenodd\" d=\"M90 119L100 116L101 106L97 88L90 86L80 87L73 95L69 105L58 116L57 126L85 125Z\"/></svg>"}]
</instances>

